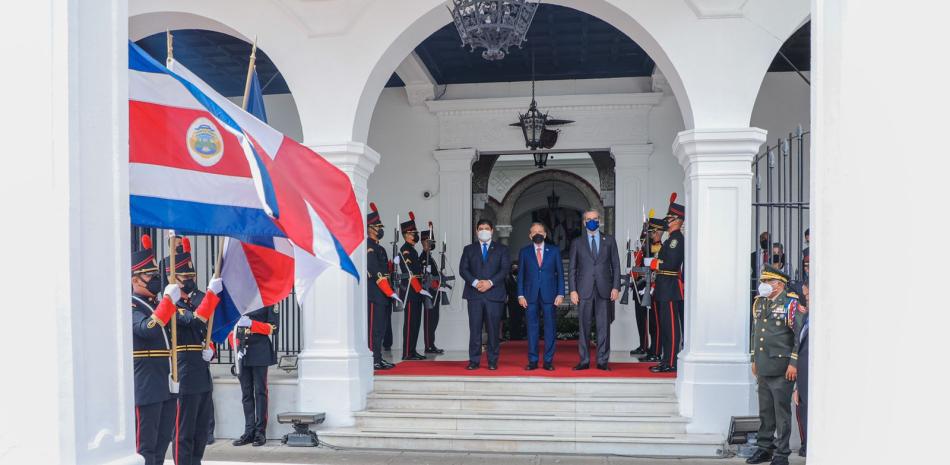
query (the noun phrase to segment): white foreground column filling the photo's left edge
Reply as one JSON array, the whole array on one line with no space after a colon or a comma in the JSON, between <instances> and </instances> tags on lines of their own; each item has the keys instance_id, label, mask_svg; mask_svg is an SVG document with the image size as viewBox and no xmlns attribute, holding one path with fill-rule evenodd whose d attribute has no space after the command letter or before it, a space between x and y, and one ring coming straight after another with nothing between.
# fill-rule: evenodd
<instances>
[{"instance_id":1,"label":"white foreground column filling the photo's left edge","mask_svg":"<svg viewBox=\"0 0 950 465\"><path fill-rule=\"evenodd\" d=\"M125 2L0 18L0 462L134 464ZM24 78L26 77L26 78ZM19 154L19 155L13 155Z\"/></svg>"}]
</instances>

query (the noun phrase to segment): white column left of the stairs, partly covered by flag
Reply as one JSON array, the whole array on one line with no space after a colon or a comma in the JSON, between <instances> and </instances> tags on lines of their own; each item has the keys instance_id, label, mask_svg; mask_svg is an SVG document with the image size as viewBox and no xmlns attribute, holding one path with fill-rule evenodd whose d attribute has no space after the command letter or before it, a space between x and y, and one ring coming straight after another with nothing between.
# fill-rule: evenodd
<instances>
[{"instance_id":1,"label":"white column left of the stairs, partly covered by flag","mask_svg":"<svg viewBox=\"0 0 950 465\"><path fill-rule=\"evenodd\" d=\"M311 146L353 183L360 210L367 210L366 182L379 154L365 144ZM350 255L360 281L338 270L323 273L301 308L304 347L298 358L298 408L326 412L327 426L350 426L373 388L373 357L367 346L366 245Z\"/></svg>"}]
</instances>

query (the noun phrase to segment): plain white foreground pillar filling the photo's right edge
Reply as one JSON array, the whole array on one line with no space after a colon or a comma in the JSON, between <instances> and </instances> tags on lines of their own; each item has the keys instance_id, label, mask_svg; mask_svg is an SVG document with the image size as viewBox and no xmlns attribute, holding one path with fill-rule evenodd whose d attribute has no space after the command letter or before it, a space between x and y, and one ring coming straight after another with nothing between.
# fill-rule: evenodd
<instances>
[{"instance_id":1,"label":"plain white foreground pillar filling the photo's right edge","mask_svg":"<svg viewBox=\"0 0 950 465\"><path fill-rule=\"evenodd\" d=\"M950 4L812 5L808 463L945 461Z\"/></svg>"}]
</instances>

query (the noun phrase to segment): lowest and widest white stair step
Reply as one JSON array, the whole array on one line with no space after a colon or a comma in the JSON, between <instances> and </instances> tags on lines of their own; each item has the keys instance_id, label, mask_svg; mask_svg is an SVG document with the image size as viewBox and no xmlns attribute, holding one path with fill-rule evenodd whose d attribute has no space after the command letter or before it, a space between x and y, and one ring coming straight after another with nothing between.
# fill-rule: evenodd
<instances>
[{"instance_id":1,"label":"lowest and widest white stair step","mask_svg":"<svg viewBox=\"0 0 950 465\"><path fill-rule=\"evenodd\" d=\"M342 428L321 439L340 447L421 451L551 454L621 454L651 457L716 457L722 437L703 434L518 434L514 432L402 432Z\"/></svg>"}]
</instances>

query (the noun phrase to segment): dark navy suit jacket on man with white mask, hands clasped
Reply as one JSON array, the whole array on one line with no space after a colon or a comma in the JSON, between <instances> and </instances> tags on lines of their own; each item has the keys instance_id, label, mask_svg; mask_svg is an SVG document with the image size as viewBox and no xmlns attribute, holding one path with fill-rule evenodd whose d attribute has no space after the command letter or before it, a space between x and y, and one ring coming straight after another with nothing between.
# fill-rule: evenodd
<instances>
[{"instance_id":1,"label":"dark navy suit jacket on man with white mask, hands clasped","mask_svg":"<svg viewBox=\"0 0 950 465\"><path fill-rule=\"evenodd\" d=\"M462 261L459 263L459 276L465 283L462 298L504 302L508 295L505 291L505 277L510 272L511 257L508 256L508 247L491 241L488 244L488 259L482 260L481 242L466 245L462 250ZM479 292L472 286L476 279L491 281L492 288L488 292Z\"/></svg>"}]
</instances>

